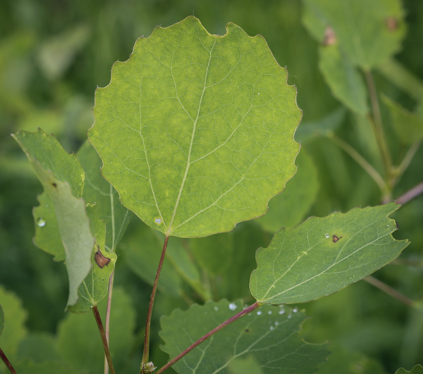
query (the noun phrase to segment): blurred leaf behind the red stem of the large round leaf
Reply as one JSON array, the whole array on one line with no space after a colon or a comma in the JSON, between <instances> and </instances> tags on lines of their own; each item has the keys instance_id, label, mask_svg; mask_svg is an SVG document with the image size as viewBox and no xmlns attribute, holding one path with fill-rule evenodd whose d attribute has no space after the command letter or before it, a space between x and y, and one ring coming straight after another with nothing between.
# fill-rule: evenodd
<instances>
[{"instance_id":1,"label":"blurred leaf behind the red stem of the large round leaf","mask_svg":"<svg viewBox=\"0 0 423 374\"><path fill-rule=\"evenodd\" d=\"M126 264L135 274L151 286L156 277L164 243L164 238L160 240L161 238L155 231L144 223L140 223L137 226L137 230L129 235L123 246ZM169 239L169 244L172 239ZM157 287L160 291L172 296L181 294L181 278L166 256Z\"/></svg>"}]
</instances>

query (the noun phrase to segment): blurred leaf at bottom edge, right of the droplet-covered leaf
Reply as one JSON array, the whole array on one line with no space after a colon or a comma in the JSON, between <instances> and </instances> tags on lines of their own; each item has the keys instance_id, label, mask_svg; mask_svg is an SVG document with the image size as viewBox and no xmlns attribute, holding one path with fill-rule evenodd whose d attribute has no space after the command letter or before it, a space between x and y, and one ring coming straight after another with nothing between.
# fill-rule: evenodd
<instances>
[{"instance_id":1,"label":"blurred leaf at bottom edge, right of the droplet-covered leaf","mask_svg":"<svg viewBox=\"0 0 423 374\"><path fill-rule=\"evenodd\" d=\"M319 374L387 374L376 360L359 352L348 352L338 347L332 348L327 361L319 365Z\"/></svg>"}]
</instances>

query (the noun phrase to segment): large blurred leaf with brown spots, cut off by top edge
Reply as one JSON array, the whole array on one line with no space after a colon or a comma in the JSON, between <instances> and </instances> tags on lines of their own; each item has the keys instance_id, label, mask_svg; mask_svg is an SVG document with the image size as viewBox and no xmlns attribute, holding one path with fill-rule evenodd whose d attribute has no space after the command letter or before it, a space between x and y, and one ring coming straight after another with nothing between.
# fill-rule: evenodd
<instances>
[{"instance_id":1,"label":"large blurred leaf with brown spots, cut off by top edge","mask_svg":"<svg viewBox=\"0 0 423 374\"><path fill-rule=\"evenodd\" d=\"M353 65L369 70L400 48L405 34L404 10L398 0L304 0L304 24L319 41L328 27ZM310 18L314 16L315 21ZM323 26L323 27L322 27Z\"/></svg>"}]
</instances>

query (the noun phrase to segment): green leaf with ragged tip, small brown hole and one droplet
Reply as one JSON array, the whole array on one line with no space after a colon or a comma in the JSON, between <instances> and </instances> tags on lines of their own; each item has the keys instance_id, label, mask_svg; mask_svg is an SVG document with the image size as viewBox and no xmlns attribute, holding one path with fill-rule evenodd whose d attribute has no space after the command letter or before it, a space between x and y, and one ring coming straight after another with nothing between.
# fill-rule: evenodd
<instances>
[{"instance_id":1,"label":"green leaf with ragged tip, small brown hole and one droplet","mask_svg":"<svg viewBox=\"0 0 423 374\"><path fill-rule=\"evenodd\" d=\"M310 217L292 230L277 231L256 253L250 289L259 302L307 302L371 274L398 257L407 240L395 240L398 226L387 215L394 202L327 217Z\"/></svg>"}]
</instances>

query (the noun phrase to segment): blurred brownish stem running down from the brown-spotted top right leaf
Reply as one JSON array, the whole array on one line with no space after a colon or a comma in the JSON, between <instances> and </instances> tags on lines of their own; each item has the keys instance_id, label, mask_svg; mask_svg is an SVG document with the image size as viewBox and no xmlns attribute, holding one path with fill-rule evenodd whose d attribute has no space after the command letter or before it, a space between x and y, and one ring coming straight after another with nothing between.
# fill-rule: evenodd
<instances>
[{"instance_id":1,"label":"blurred brownish stem running down from the brown-spotted top right leaf","mask_svg":"<svg viewBox=\"0 0 423 374\"><path fill-rule=\"evenodd\" d=\"M391 159L389 148L386 142L385 129L383 128L382 115L380 114L380 107L379 107L379 100L377 98L376 86L374 84L373 75L371 74L370 70L365 71L364 75L366 77L367 86L369 89L370 102L371 102L371 107L373 112L374 121L371 121L371 123L373 124L376 140L379 145L380 151L382 153L383 161L385 164L386 175L389 177L391 168L392 168L392 159Z\"/></svg>"}]
</instances>

